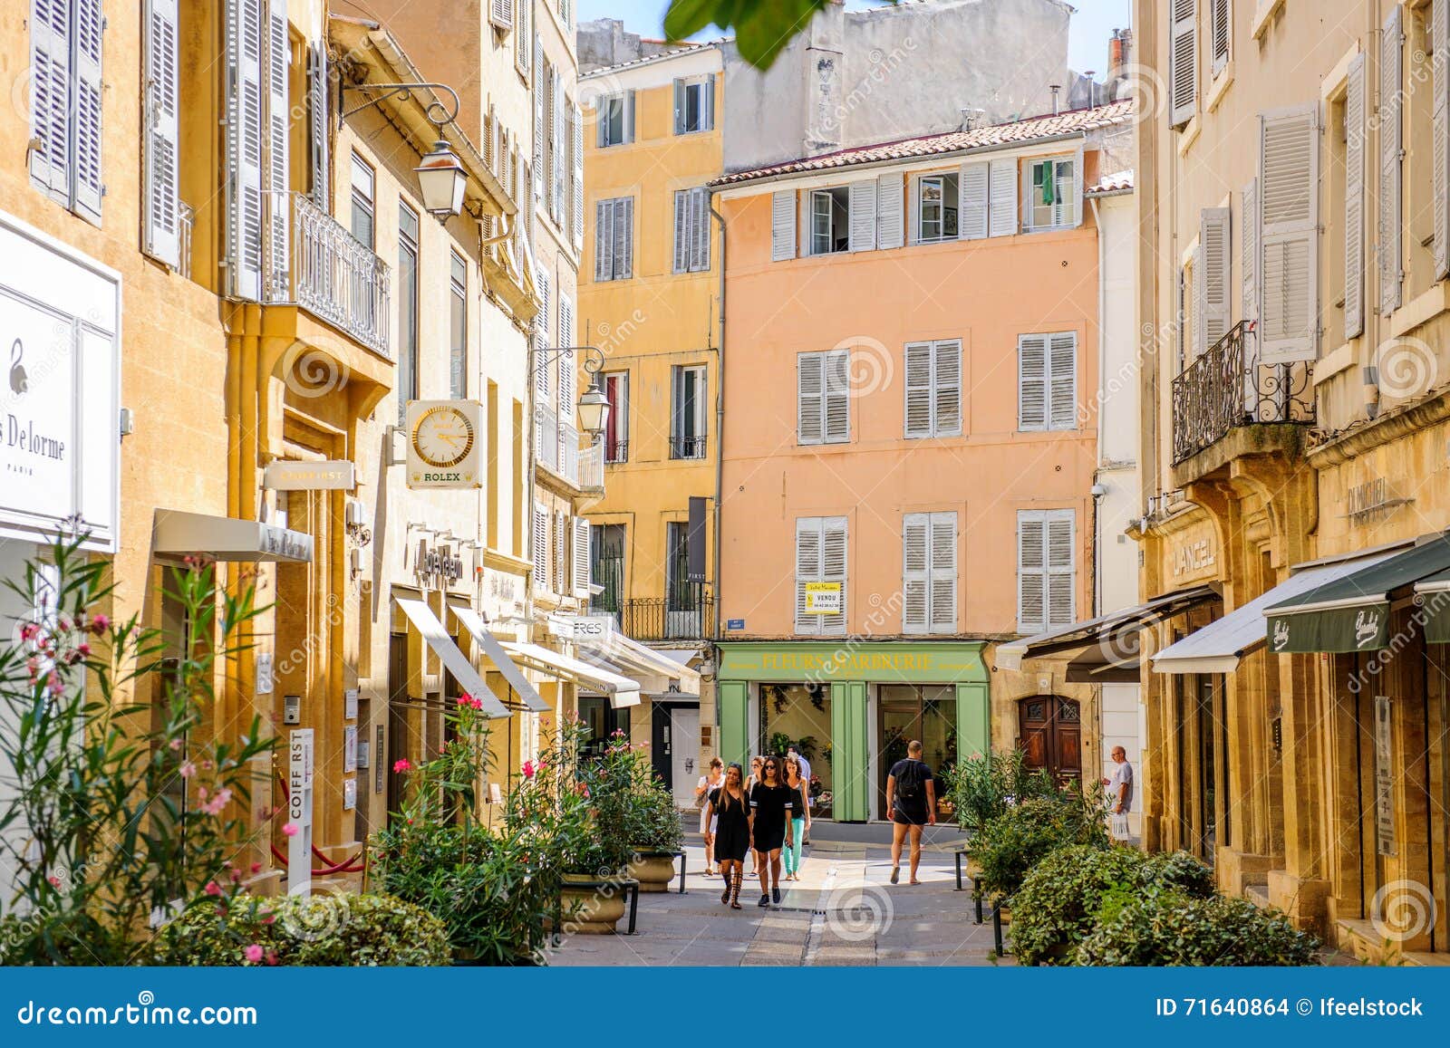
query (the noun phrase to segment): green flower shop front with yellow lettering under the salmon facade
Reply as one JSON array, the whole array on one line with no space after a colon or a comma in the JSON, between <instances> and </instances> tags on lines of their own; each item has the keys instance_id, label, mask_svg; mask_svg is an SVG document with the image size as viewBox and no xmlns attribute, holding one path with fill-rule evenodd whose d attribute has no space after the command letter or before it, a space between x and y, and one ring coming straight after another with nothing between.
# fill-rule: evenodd
<instances>
[{"instance_id":1,"label":"green flower shop front with yellow lettering under the salmon facade","mask_svg":"<svg viewBox=\"0 0 1450 1048\"><path fill-rule=\"evenodd\" d=\"M886 774L921 739L932 771L986 752L990 699L982 644L722 641L719 754L748 773L790 742L811 762L815 818L880 819ZM941 812L950 816L950 812Z\"/></svg>"}]
</instances>

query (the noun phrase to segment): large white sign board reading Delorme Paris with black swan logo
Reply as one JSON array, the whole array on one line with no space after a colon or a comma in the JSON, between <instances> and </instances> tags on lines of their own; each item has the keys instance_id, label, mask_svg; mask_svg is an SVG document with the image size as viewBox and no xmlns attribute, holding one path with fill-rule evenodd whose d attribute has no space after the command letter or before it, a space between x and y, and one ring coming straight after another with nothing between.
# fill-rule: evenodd
<instances>
[{"instance_id":1,"label":"large white sign board reading Delorme Paris with black swan logo","mask_svg":"<svg viewBox=\"0 0 1450 1048\"><path fill-rule=\"evenodd\" d=\"M120 275L0 213L0 538L116 549L119 358Z\"/></svg>"}]
</instances>

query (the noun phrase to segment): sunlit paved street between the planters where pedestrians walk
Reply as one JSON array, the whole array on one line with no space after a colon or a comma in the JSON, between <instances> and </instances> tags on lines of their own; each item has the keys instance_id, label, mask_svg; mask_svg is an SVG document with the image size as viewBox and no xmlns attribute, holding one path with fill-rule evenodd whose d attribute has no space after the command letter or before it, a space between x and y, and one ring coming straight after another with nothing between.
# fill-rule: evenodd
<instances>
[{"instance_id":1,"label":"sunlit paved street between the planters where pedestrians walk","mask_svg":"<svg viewBox=\"0 0 1450 1048\"><path fill-rule=\"evenodd\" d=\"M973 923L970 891L954 891L954 844L922 851L922 884L890 883L890 851L819 841L800 881L763 909L758 883L741 886L744 909L721 906L724 881L705 877L699 838L686 844L686 893L639 897L637 935L576 935L551 955L561 965L977 965L992 955L992 923Z\"/></svg>"}]
</instances>

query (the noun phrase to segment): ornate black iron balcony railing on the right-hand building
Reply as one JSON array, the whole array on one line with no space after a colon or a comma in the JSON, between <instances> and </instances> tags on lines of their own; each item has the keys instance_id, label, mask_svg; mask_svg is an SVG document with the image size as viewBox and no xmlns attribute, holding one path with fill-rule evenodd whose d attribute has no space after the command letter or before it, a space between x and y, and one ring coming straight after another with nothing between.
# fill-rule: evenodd
<instances>
[{"instance_id":1,"label":"ornate black iron balcony railing on the right-hand building","mask_svg":"<svg viewBox=\"0 0 1450 1048\"><path fill-rule=\"evenodd\" d=\"M1173 464L1238 426L1314 422L1311 365L1264 364L1251 322L1240 320L1173 380Z\"/></svg>"}]
</instances>

